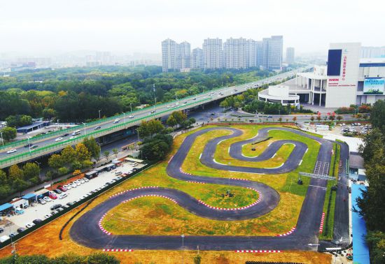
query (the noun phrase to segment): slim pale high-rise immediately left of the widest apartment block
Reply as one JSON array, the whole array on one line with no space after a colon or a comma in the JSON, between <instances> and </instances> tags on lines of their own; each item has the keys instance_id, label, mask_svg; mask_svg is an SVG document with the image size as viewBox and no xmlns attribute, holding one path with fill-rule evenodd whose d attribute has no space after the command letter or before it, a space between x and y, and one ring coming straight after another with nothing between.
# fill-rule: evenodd
<instances>
[{"instance_id":1,"label":"slim pale high-rise immediately left of the widest apartment block","mask_svg":"<svg viewBox=\"0 0 385 264\"><path fill-rule=\"evenodd\" d=\"M207 38L203 41L203 68L222 68L222 40Z\"/></svg>"}]
</instances>

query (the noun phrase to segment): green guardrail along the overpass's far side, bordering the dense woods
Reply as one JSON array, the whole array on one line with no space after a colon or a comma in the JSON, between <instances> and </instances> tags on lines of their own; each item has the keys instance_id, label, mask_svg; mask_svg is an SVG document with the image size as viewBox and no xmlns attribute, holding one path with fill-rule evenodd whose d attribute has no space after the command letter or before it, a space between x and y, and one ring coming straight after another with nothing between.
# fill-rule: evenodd
<instances>
[{"instance_id":1,"label":"green guardrail along the overpass's far side, bordering the dense woods","mask_svg":"<svg viewBox=\"0 0 385 264\"><path fill-rule=\"evenodd\" d=\"M297 72L297 71L293 71L293 73L295 73L295 72ZM286 74L286 73L281 73L281 74L283 75L283 74ZM279 76L279 75L269 76L268 78L260 79L260 80L257 80L255 82L259 82L261 80L268 80L269 78L276 77L276 76ZM253 82L249 82L249 83L253 83ZM236 86L241 86L241 85L235 85L233 87L236 87ZM155 105L155 109L159 108L159 107L162 107L164 105L173 104L173 103L176 103L176 102L179 102L179 101L189 100L190 98L194 98L194 97L197 97L197 96L204 96L204 95L207 95L207 94L211 94L213 92L216 92L218 90L225 89L225 88L229 88L229 87L219 87L219 88L216 88L216 89L211 89L209 91L204 91L203 93L200 93L200 94L195 94L195 95L187 96L187 97L184 97L184 98L181 98L181 99L178 99L178 100L169 101L169 102L166 102L166 103L160 103L160 104ZM147 110L151 110L152 108L154 108L154 105L148 106L147 108L134 110L132 112L125 112L125 114L114 115L112 117L106 117L104 119L95 120L93 122L85 123L85 127L87 128L89 126L94 126L94 125L97 125L97 124L104 124L105 122L109 122L109 121L111 121L113 119L122 118L122 117L125 117L125 115L138 114L139 112L144 112L144 111L147 111ZM69 128L69 129L62 129L62 130L59 130L59 131L54 131L54 132L47 133L45 135L36 135L33 138L29 138L29 142L30 143L38 142L38 141L43 140L45 138L54 138L55 136L62 135L63 133L71 133L73 131L77 131L77 130L81 130L81 129L84 129L84 125L73 126L73 127ZM18 140L18 141L9 142L6 145L0 146L0 150L8 149L10 147L17 147L17 146L21 146L21 145L27 145L27 144L28 144L28 139Z\"/></svg>"}]
</instances>

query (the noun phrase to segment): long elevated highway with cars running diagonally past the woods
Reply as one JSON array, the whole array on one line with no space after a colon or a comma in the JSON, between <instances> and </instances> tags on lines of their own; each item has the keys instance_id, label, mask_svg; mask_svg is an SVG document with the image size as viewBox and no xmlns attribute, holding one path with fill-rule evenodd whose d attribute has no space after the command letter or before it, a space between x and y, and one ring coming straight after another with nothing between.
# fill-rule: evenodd
<instances>
[{"instance_id":1,"label":"long elevated highway with cars running diagonally past the woods","mask_svg":"<svg viewBox=\"0 0 385 264\"><path fill-rule=\"evenodd\" d=\"M221 87L218 89L206 91L201 94L196 94L194 96L181 98L176 101L153 105L148 108L132 112L126 112L122 115L116 115L90 123L83 123L82 125L72 127L71 129L55 131L46 135L38 135L29 139L31 145L37 146L34 149L24 147L25 145L28 145L27 139L11 142L10 144L0 147L0 168L6 168L8 166L12 166L15 163L29 161L30 159L36 159L39 156L43 156L45 154L57 152L58 150L63 149L68 145L76 145L76 143L82 142L83 139L86 137L92 136L94 138L99 138L109 133L127 129L131 126L137 126L142 121L148 121L150 119L169 115L176 110L186 110L190 108L195 108L199 105L210 103L211 101L216 101L218 99L222 99L234 94L239 94L243 91L246 91L246 89L255 88L260 85L268 84L275 81L280 81L284 78L288 78L295 75L299 71L307 71L311 67L312 66L307 66L304 68L299 68L297 70L288 71L286 73L280 73L269 78L265 78L255 82L249 82L244 85ZM120 119L120 121L118 123L114 123L114 120L116 119ZM99 126L100 128L96 129ZM73 131L81 132L79 135L76 136L76 138L70 138L71 133L73 133ZM69 135L63 136L64 134ZM57 138L63 139L56 141ZM16 149L16 151L8 154L7 152L10 149Z\"/></svg>"}]
</instances>

